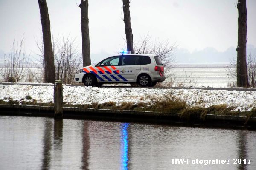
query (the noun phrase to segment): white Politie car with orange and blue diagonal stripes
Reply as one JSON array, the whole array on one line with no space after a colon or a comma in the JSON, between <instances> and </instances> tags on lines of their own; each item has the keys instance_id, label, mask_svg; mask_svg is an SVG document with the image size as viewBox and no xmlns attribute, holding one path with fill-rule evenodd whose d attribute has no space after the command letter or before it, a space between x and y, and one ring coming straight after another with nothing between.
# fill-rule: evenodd
<instances>
[{"instance_id":1,"label":"white Politie car with orange and blue diagonal stripes","mask_svg":"<svg viewBox=\"0 0 256 170\"><path fill-rule=\"evenodd\" d=\"M100 87L104 83L137 83L154 86L163 82L163 63L154 54L122 54L108 57L95 66L90 65L76 71L75 82L85 86Z\"/></svg>"}]
</instances>

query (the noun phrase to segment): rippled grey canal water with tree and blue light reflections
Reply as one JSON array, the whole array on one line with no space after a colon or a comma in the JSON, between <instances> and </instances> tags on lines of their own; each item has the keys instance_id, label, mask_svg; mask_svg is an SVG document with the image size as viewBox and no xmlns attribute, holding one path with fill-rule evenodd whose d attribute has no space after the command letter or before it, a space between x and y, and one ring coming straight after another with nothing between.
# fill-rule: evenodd
<instances>
[{"instance_id":1,"label":"rippled grey canal water with tree and blue light reflections","mask_svg":"<svg viewBox=\"0 0 256 170\"><path fill-rule=\"evenodd\" d=\"M255 170L256 132L0 116L0 170L47 169Z\"/></svg>"}]
</instances>

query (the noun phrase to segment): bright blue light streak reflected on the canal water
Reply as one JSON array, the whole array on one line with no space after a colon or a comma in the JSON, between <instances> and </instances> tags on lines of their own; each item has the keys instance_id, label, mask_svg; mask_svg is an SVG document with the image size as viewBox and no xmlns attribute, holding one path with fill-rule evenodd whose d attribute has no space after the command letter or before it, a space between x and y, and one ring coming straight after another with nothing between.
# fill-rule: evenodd
<instances>
[{"instance_id":1,"label":"bright blue light streak reflected on the canal water","mask_svg":"<svg viewBox=\"0 0 256 170\"><path fill-rule=\"evenodd\" d=\"M129 123L121 124L121 170L128 170L128 129Z\"/></svg>"}]
</instances>

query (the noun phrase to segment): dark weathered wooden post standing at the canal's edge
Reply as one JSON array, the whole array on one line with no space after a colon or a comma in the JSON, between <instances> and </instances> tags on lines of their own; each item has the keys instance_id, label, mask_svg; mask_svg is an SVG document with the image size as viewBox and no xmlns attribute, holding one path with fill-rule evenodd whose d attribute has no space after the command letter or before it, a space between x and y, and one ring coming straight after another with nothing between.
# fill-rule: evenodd
<instances>
[{"instance_id":1,"label":"dark weathered wooden post standing at the canal's edge","mask_svg":"<svg viewBox=\"0 0 256 170\"><path fill-rule=\"evenodd\" d=\"M63 118L63 98L62 98L62 82L55 80L54 84L54 118Z\"/></svg>"}]
</instances>

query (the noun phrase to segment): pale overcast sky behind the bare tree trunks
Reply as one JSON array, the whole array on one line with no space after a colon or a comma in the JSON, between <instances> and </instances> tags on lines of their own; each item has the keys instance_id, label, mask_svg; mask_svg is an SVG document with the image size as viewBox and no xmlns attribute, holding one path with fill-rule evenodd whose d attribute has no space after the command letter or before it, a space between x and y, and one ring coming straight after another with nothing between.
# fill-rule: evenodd
<instances>
[{"instance_id":1,"label":"pale overcast sky behind the bare tree trunks","mask_svg":"<svg viewBox=\"0 0 256 170\"><path fill-rule=\"evenodd\" d=\"M81 51L79 3L80 0L47 0L53 35L70 34ZM236 3L236 0L131 0L134 41L149 34L152 40L176 42L177 61L184 63L189 62L187 59L198 61L198 53L206 59L218 58L219 54L235 57ZM122 15L122 0L89 0L92 61L116 54L124 47ZM255 16L256 0L247 0L247 46L254 51ZM16 39L24 33L27 53L37 52L35 39L40 39L42 29L37 0L0 0L0 24L0 55L10 51L15 33Z\"/></svg>"}]
</instances>

